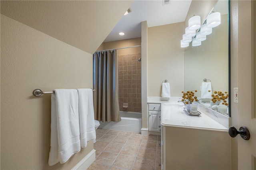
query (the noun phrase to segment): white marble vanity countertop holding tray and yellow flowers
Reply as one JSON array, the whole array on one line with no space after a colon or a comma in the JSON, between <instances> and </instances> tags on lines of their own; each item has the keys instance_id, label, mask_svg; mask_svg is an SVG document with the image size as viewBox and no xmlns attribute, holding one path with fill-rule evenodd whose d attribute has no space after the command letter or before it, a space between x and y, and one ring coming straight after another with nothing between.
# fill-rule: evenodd
<instances>
[{"instance_id":1,"label":"white marble vanity countertop holding tray and yellow flowers","mask_svg":"<svg viewBox=\"0 0 256 170\"><path fill-rule=\"evenodd\" d=\"M148 97L148 103L161 104L161 124L164 126L178 126L188 128L201 128L211 130L224 130L228 128L215 121L209 113L200 110L200 116L190 116L184 111L184 105L178 102L180 98L172 97L169 101L161 101L160 97Z\"/></svg>"}]
</instances>

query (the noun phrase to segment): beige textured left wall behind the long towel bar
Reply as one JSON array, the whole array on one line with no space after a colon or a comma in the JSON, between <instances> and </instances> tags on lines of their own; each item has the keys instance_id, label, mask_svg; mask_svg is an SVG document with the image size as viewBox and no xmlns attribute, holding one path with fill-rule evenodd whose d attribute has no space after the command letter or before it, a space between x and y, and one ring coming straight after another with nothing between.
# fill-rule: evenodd
<instances>
[{"instance_id":1,"label":"beige textured left wall behind the long towel bar","mask_svg":"<svg viewBox=\"0 0 256 170\"><path fill-rule=\"evenodd\" d=\"M65 164L48 166L50 95L40 88L91 88L92 54L1 14L1 169L71 169L92 141Z\"/></svg>"}]
</instances>

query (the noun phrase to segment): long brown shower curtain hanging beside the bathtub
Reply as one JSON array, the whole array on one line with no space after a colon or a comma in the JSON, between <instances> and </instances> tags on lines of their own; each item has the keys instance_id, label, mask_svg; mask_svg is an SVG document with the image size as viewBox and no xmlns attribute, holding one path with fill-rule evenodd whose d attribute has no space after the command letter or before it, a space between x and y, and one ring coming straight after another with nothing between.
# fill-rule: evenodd
<instances>
[{"instance_id":1,"label":"long brown shower curtain hanging beside the bathtub","mask_svg":"<svg viewBox=\"0 0 256 170\"><path fill-rule=\"evenodd\" d=\"M120 121L118 105L116 50L93 55L94 118L98 121Z\"/></svg>"}]
</instances>

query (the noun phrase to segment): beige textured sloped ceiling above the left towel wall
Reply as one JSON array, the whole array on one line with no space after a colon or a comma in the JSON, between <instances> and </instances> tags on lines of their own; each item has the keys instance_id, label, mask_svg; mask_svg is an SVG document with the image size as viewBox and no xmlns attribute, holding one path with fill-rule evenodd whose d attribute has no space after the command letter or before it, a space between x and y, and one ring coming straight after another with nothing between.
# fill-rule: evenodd
<instances>
[{"instance_id":1,"label":"beige textured sloped ceiling above the left towel wall","mask_svg":"<svg viewBox=\"0 0 256 170\"><path fill-rule=\"evenodd\" d=\"M133 0L10 0L1 14L93 54Z\"/></svg>"}]
</instances>

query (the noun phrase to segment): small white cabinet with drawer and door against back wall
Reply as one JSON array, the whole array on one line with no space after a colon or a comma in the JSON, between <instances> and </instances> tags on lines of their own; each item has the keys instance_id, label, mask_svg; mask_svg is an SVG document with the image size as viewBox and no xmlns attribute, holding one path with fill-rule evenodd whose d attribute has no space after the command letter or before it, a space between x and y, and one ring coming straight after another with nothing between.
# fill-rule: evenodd
<instances>
[{"instance_id":1,"label":"small white cabinet with drawer and door against back wall","mask_svg":"<svg viewBox=\"0 0 256 170\"><path fill-rule=\"evenodd\" d=\"M159 132L161 129L161 104L148 104L148 130Z\"/></svg>"}]
</instances>

